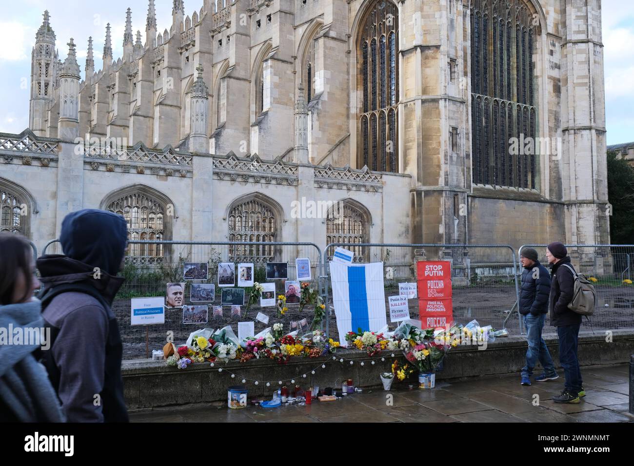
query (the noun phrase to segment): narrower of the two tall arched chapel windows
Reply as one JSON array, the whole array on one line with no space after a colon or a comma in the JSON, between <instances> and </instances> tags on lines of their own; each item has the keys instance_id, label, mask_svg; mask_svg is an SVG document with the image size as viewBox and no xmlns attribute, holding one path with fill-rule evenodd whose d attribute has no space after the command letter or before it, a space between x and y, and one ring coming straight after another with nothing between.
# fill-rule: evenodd
<instances>
[{"instance_id":1,"label":"narrower of the two tall arched chapel windows","mask_svg":"<svg viewBox=\"0 0 634 466\"><path fill-rule=\"evenodd\" d=\"M398 172L398 8L377 0L359 32L358 166ZM369 152L368 152L369 151Z\"/></svg>"}]
</instances>

